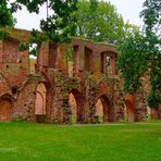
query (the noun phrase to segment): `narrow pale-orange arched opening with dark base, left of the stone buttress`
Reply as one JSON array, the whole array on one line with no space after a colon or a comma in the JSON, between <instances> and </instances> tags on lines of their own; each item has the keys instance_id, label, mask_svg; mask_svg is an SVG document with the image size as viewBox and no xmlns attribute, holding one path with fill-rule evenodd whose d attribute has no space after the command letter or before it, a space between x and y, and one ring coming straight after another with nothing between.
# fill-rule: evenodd
<instances>
[{"instance_id":1,"label":"narrow pale-orange arched opening with dark base, left of the stone buttress","mask_svg":"<svg viewBox=\"0 0 161 161\"><path fill-rule=\"evenodd\" d=\"M37 86L36 90L36 100L35 100L35 115L37 115L37 121L42 122L46 115L46 95L47 95L47 89L46 86L40 83Z\"/></svg>"}]
</instances>

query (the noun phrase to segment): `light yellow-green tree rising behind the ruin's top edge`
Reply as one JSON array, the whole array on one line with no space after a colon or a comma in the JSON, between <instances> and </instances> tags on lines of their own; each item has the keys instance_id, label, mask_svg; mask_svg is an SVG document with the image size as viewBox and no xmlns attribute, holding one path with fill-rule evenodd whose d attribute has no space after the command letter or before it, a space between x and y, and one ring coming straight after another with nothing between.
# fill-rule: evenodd
<instances>
[{"instance_id":1,"label":"light yellow-green tree rising behind the ruin's top edge","mask_svg":"<svg viewBox=\"0 0 161 161\"><path fill-rule=\"evenodd\" d=\"M124 21L110 2L81 0L77 9L78 37L112 44L124 37Z\"/></svg>"}]
</instances>

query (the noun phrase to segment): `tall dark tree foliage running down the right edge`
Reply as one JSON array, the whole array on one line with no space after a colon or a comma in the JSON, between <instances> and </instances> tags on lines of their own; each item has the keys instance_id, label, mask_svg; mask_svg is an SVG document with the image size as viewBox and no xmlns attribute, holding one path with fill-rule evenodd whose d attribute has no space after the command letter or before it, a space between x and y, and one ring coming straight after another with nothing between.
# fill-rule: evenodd
<instances>
[{"instance_id":1,"label":"tall dark tree foliage running down the right edge","mask_svg":"<svg viewBox=\"0 0 161 161\"><path fill-rule=\"evenodd\" d=\"M161 1L146 0L140 16L145 22L145 42L147 44L151 91L148 96L149 106L161 104Z\"/></svg>"}]
</instances>

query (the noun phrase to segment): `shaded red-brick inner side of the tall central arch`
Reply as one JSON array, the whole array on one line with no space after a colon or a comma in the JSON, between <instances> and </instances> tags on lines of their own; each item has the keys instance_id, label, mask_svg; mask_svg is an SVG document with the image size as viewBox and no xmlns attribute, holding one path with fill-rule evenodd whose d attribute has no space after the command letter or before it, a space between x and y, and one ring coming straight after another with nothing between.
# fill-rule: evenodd
<instances>
[{"instance_id":1,"label":"shaded red-brick inner side of the tall central arch","mask_svg":"<svg viewBox=\"0 0 161 161\"><path fill-rule=\"evenodd\" d=\"M84 122L85 117L85 98L78 89L72 89L69 94L72 94L76 101L76 122ZM72 109L71 109L72 110Z\"/></svg>"}]
</instances>

